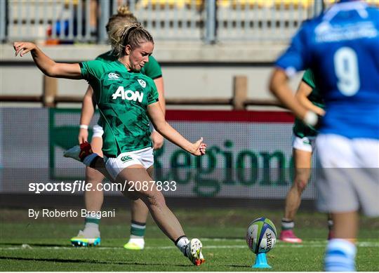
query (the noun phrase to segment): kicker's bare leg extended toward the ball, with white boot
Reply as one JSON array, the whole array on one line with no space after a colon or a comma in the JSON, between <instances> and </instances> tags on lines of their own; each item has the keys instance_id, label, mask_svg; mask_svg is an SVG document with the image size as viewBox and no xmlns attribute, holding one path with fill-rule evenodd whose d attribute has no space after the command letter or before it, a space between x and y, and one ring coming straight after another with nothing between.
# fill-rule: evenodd
<instances>
[{"instance_id":1,"label":"kicker's bare leg extended toward the ball, with white boot","mask_svg":"<svg viewBox=\"0 0 379 273\"><path fill-rule=\"evenodd\" d=\"M119 183L124 183L125 181L143 182L152 181L152 178L145 168L140 165L133 165L124 168L117 175L116 180ZM124 194L128 194L128 190ZM178 218L166 206L164 195L157 189L156 185L152 185L147 190L134 191L133 194L144 201L158 227L168 238L175 242L175 245L194 265L200 265L205 261L201 253L201 241L199 239L192 239L191 241L187 239Z\"/></svg>"}]
</instances>

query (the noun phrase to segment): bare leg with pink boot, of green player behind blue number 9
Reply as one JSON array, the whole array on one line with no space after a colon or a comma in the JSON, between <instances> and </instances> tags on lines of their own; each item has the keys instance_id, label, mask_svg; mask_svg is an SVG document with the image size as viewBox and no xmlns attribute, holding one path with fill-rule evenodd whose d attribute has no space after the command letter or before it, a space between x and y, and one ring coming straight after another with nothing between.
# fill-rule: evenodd
<instances>
[{"instance_id":1,"label":"bare leg with pink boot, of green player behind blue number 9","mask_svg":"<svg viewBox=\"0 0 379 273\"><path fill-rule=\"evenodd\" d=\"M286 196L284 208L284 218L281 220L281 233L279 239L288 243L301 243L302 239L295 236L293 228L295 226L295 215L301 203L301 194L310 179L312 152L300 149L293 149L293 161L295 168L295 178L293 185Z\"/></svg>"}]
</instances>

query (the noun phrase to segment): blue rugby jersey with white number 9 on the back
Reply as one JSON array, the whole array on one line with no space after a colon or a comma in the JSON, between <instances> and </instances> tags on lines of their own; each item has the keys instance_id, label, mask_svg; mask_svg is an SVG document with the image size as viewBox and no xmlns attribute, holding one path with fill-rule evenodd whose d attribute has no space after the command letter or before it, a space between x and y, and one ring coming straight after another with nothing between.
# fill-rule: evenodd
<instances>
[{"instance_id":1,"label":"blue rugby jersey with white number 9 on the back","mask_svg":"<svg viewBox=\"0 0 379 273\"><path fill-rule=\"evenodd\" d=\"M326 103L320 133L379 139L378 8L334 4L302 25L276 65L314 72Z\"/></svg>"}]
</instances>

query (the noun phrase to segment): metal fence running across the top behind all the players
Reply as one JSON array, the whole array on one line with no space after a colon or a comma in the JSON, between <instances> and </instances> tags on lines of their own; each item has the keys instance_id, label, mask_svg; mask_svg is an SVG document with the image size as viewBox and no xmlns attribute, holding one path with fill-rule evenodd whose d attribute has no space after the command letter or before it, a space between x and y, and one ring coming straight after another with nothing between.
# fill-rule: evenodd
<instances>
[{"instance_id":1,"label":"metal fence running across the top behind all the players","mask_svg":"<svg viewBox=\"0 0 379 273\"><path fill-rule=\"evenodd\" d=\"M335 0L326 0L326 5ZM378 0L368 0L379 6ZM128 5L156 40L288 41L321 0L1 0L0 39L105 44L105 25Z\"/></svg>"}]
</instances>

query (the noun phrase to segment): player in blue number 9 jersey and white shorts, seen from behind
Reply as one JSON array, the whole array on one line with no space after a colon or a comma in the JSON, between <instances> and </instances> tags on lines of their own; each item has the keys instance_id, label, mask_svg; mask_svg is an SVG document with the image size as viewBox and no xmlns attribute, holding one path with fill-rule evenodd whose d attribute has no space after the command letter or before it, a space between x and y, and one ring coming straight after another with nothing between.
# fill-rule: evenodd
<instances>
[{"instance_id":1,"label":"player in blue number 9 jersey and white shorts, seen from behind","mask_svg":"<svg viewBox=\"0 0 379 273\"><path fill-rule=\"evenodd\" d=\"M326 271L354 271L359 208L379 216L379 10L340 1L302 25L270 81L274 95L306 124L317 114L295 99L288 77L310 68L326 104L317 136L318 205L330 211Z\"/></svg>"}]
</instances>

